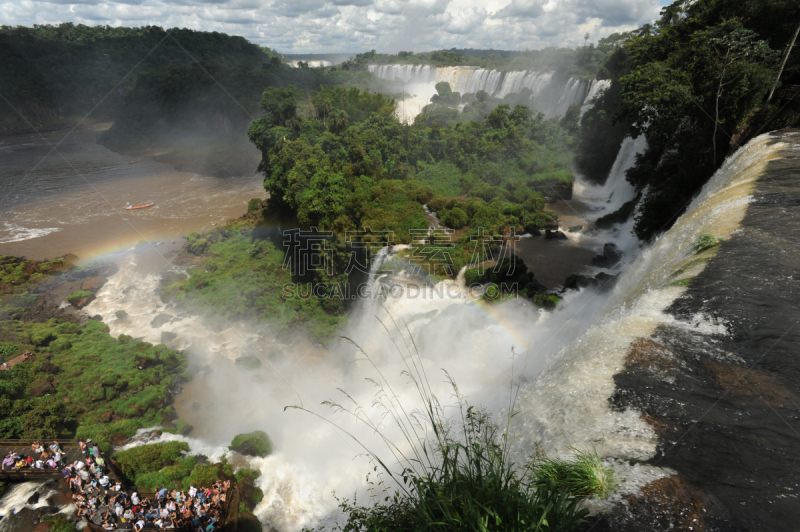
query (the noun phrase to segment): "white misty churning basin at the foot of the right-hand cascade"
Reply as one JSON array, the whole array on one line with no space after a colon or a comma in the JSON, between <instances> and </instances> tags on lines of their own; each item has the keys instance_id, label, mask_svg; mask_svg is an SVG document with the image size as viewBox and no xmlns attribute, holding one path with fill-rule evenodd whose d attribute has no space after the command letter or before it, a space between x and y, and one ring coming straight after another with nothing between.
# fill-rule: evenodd
<instances>
[{"instance_id":1,"label":"white misty churning basin at the foot of the right-hand cascade","mask_svg":"<svg viewBox=\"0 0 800 532\"><path fill-rule=\"evenodd\" d=\"M625 157L630 159L629 154ZM624 171L628 161L621 164ZM617 184L627 186L624 180ZM576 206L581 201L576 197ZM607 205L588 208L592 216L608 212ZM564 245L595 245L595 240L605 238L609 234ZM365 496L371 464L361 445L379 454L385 451L385 444L370 428L321 406L323 401L359 405L363 415L380 419L384 411L374 404L379 389L368 379L385 378L389 388L384 391L391 404L406 411L420 408L418 391L403 375L409 357L418 355L448 413L455 413L448 376L470 404L501 413L520 384L533 382L561 346L596 322L596 313L609 296L608 292L570 292L556 310L545 312L524 300L481 303L461 279L420 287L402 276L373 275L370 282L375 288L397 290L387 290L395 295L385 300L362 300L352 311L342 335L363 349L361 353L346 340L322 346L298 334L289 342L279 342L267 325L255 320L209 330L202 316L184 313L158 297L160 275L169 268L164 258L170 251L170 245L140 246L114 257L118 273L86 312L100 314L112 335L128 334L158 343L162 331L177 333L168 345L186 349L199 372L175 398L181 419L194 426L187 439L193 452L221 456L238 433L260 429L270 435L274 453L246 462L263 473L258 483L265 497L256 513L277 530L299 530L334 520L338 510L333 492L351 497L358 491ZM380 250L374 265L396 251ZM117 318L118 310L125 310L127 317ZM159 314L172 319L152 327ZM248 356L260 360L259 369L235 363ZM284 411L289 405L312 413ZM403 441L388 420L382 426L392 441ZM184 439L162 436L174 438Z\"/></svg>"}]
</instances>

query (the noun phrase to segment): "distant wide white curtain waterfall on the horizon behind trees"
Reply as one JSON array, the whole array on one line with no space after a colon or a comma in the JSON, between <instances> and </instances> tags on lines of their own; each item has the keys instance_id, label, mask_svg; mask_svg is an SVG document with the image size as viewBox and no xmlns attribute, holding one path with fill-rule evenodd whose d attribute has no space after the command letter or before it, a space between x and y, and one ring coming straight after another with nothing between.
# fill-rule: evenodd
<instances>
[{"instance_id":1,"label":"distant wide white curtain waterfall on the horizon behind trees","mask_svg":"<svg viewBox=\"0 0 800 532\"><path fill-rule=\"evenodd\" d=\"M610 85L607 80L563 79L554 72L535 70L501 72L430 65L369 65L368 68L379 78L399 85L397 90L402 90L404 97L398 102L398 116L407 121L413 121L430 103L431 96L436 94L435 85L442 81L448 82L454 92L475 94L482 90L496 98L529 89L533 108L548 118L563 115L571 105L581 107L583 116L590 101Z\"/></svg>"}]
</instances>

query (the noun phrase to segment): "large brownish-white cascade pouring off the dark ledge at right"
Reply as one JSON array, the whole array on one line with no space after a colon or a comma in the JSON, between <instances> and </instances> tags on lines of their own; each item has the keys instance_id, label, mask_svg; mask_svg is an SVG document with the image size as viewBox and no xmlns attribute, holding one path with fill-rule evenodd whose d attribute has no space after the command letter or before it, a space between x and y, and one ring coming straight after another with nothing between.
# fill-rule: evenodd
<instances>
[{"instance_id":1,"label":"large brownish-white cascade pouring off the dark ledge at right","mask_svg":"<svg viewBox=\"0 0 800 532\"><path fill-rule=\"evenodd\" d=\"M538 378L525 386L517 418L518 452L529 453L535 444L557 452L570 441L594 441L602 442L604 455L616 460L646 460L654 455L655 433L638 412L611 410L613 377L621 371L631 343L650 337L659 326L689 334L729 334L723 324L704 314L687 321L666 314L665 309L686 291L670 283L671 276L681 268L690 275L705 268L694 252L701 234L728 238L739 230L756 180L785 147L772 135L750 141L726 160L675 225L630 264L591 327L562 346ZM641 467L643 476L637 477L635 471L626 475L646 481L653 472Z\"/></svg>"}]
</instances>

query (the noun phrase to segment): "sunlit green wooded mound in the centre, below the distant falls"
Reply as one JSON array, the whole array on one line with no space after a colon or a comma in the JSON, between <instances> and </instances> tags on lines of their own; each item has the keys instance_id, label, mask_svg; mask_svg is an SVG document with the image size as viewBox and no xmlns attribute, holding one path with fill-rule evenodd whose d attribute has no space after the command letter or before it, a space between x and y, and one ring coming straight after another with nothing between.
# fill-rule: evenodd
<instances>
[{"instance_id":1,"label":"sunlit green wooded mound in the centre, below the distant falls","mask_svg":"<svg viewBox=\"0 0 800 532\"><path fill-rule=\"evenodd\" d=\"M566 132L524 106L427 127L402 124L393 100L357 89L323 87L312 114L298 114L296 102L293 88L265 91L265 116L249 135L262 153L268 211L301 226L394 230L408 242L409 229L427 228L419 203L437 189L474 199L459 208L487 230L540 220L542 194L571 190Z\"/></svg>"}]
</instances>

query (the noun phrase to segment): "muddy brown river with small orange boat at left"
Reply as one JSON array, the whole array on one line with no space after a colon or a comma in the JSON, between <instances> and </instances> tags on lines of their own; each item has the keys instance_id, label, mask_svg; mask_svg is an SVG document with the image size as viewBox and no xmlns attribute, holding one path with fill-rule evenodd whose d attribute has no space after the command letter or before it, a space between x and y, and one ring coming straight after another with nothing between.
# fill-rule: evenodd
<instances>
[{"instance_id":1,"label":"muddy brown river with small orange boat at left","mask_svg":"<svg viewBox=\"0 0 800 532\"><path fill-rule=\"evenodd\" d=\"M208 230L266 195L255 169L217 178L146 157L130 164L131 157L97 143L108 127L0 137L0 253L91 260ZM126 202L155 206L126 211Z\"/></svg>"}]
</instances>

